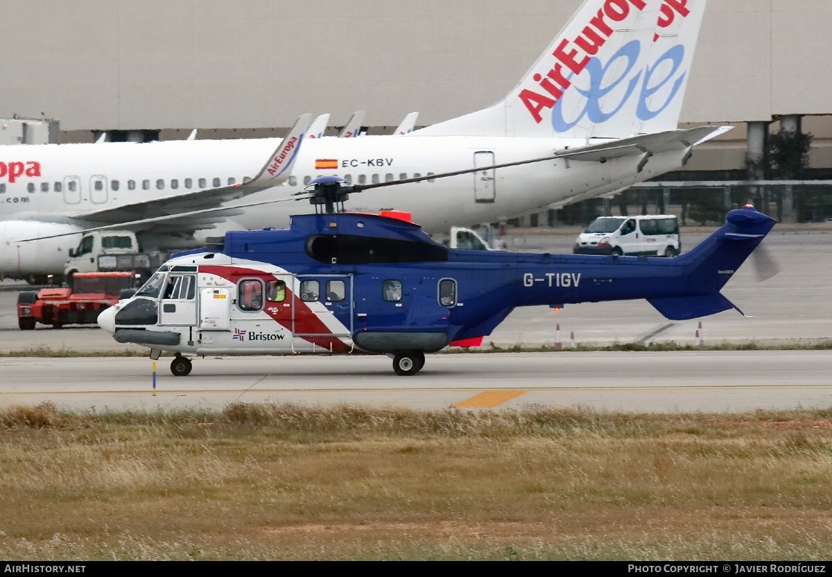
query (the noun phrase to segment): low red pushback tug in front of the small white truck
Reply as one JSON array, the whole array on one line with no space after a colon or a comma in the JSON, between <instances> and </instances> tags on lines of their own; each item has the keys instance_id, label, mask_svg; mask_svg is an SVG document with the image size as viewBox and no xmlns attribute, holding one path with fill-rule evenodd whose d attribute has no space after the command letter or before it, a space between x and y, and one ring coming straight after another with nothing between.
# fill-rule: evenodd
<instances>
[{"instance_id":1,"label":"low red pushback tug in front of the small white truck","mask_svg":"<svg viewBox=\"0 0 832 577\"><path fill-rule=\"evenodd\" d=\"M74 289L49 286L17 295L17 326L32 331L37 323L52 325L95 325L99 313L136 290L134 272L77 272Z\"/></svg>"}]
</instances>

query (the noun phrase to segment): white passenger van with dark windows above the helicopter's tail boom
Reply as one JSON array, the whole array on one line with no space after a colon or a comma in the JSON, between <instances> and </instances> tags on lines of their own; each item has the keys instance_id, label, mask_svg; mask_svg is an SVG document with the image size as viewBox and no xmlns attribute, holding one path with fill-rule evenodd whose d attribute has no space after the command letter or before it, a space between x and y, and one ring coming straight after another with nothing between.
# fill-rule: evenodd
<instances>
[{"instance_id":1,"label":"white passenger van with dark windows above the helicopter's tail boom","mask_svg":"<svg viewBox=\"0 0 832 577\"><path fill-rule=\"evenodd\" d=\"M679 220L673 215L598 216L577 237L576 255L676 256Z\"/></svg>"}]
</instances>

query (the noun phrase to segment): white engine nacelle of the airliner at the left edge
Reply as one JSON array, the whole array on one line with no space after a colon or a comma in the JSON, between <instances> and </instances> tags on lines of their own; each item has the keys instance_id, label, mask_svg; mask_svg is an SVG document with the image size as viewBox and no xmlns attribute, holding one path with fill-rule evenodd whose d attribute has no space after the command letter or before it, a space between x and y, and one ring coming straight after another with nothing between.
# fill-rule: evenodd
<instances>
[{"instance_id":1,"label":"white engine nacelle of the airliner at the left edge","mask_svg":"<svg viewBox=\"0 0 832 577\"><path fill-rule=\"evenodd\" d=\"M24 279L31 276L62 276L69 249L77 246L81 235L17 241L81 230L81 226L58 222L0 221L0 275Z\"/></svg>"}]
</instances>

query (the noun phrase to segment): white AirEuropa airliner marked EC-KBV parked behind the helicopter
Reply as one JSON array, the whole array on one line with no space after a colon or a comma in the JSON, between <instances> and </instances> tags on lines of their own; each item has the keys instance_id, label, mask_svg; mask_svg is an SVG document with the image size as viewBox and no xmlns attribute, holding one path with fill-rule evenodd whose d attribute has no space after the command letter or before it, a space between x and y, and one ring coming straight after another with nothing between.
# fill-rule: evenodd
<instances>
[{"instance_id":1,"label":"white AirEuropa airliner marked EC-KBV parked behind the helicopter","mask_svg":"<svg viewBox=\"0 0 832 577\"><path fill-rule=\"evenodd\" d=\"M308 207L282 200L318 176L369 184L481 167L349 201L410 211L438 232L675 170L726 130L677 130L704 10L705 0L586 0L502 101L405 136L299 138L276 187L268 167L288 145L273 138L0 147L0 275L60 273L78 239L67 235L96 227L173 247L218 222L286 226ZM536 158L548 160L492 168ZM206 213L217 206L232 208Z\"/></svg>"}]
</instances>

